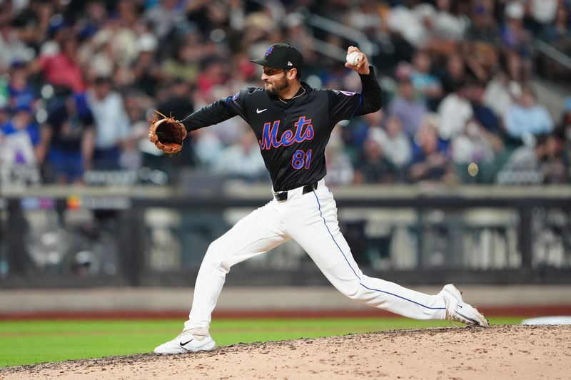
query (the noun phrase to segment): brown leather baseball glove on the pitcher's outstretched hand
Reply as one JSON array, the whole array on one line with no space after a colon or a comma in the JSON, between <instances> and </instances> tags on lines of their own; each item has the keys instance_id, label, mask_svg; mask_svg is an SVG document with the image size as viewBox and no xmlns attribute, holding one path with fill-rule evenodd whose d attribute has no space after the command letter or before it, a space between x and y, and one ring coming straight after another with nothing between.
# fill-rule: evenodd
<instances>
[{"instance_id":1,"label":"brown leather baseball glove on the pitcher's outstretched hand","mask_svg":"<svg viewBox=\"0 0 571 380\"><path fill-rule=\"evenodd\" d=\"M172 115L168 118L158 111L156 113L163 118L159 119L155 114L148 120L151 123L151 128L148 129L148 140L169 155L180 152L187 134L186 127Z\"/></svg>"}]
</instances>

